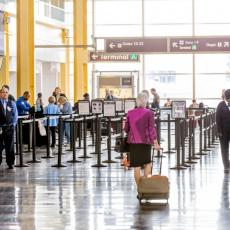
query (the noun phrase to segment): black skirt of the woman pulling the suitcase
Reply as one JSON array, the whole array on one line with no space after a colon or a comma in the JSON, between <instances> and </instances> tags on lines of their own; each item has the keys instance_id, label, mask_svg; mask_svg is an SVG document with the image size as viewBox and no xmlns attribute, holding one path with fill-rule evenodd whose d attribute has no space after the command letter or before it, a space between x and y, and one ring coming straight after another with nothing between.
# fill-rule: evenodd
<instances>
[{"instance_id":1,"label":"black skirt of the woman pulling the suitcase","mask_svg":"<svg viewBox=\"0 0 230 230\"><path fill-rule=\"evenodd\" d=\"M142 167L151 163L151 145L147 144L129 144L130 167Z\"/></svg>"}]
</instances>

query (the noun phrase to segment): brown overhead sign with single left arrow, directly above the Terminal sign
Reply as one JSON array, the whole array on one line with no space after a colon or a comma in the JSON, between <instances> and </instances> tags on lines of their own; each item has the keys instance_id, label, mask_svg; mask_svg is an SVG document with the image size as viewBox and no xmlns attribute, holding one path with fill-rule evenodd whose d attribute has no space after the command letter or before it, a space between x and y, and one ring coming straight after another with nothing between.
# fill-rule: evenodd
<instances>
[{"instance_id":1,"label":"brown overhead sign with single left arrow, directly above the Terminal sign","mask_svg":"<svg viewBox=\"0 0 230 230\"><path fill-rule=\"evenodd\" d=\"M105 38L108 53L167 52L167 38Z\"/></svg>"}]
</instances>

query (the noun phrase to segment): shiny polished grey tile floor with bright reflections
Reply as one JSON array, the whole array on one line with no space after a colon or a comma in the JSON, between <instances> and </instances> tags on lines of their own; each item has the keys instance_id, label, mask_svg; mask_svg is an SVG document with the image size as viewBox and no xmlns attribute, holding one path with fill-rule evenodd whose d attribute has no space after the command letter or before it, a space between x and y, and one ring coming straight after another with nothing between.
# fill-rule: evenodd
<instances>
[{"instance_id":1,"label":"shiny polished grey tile floor with bright reflections","mask_svg":"<svg viewBox=\"0 0 230 230\"><path fill-rule=\"evenodd\" d=\"M42 149L37 152L38 158L44 155ZM113 158L117 155L113 153ZM170 180L168 205L140 206L132 170L124 170L120 162L92 168L96 156L91 156L60 169L51 167L57 157L13 171L1 165L0 229L230 229L230 175L223 173L218 146L183 171L170 170L175 155L166 155L163 174ZM25 157L31 155L25 153ZM69 159L71 152L63 156L63 162Z\"/></svg>"}]
</instances>

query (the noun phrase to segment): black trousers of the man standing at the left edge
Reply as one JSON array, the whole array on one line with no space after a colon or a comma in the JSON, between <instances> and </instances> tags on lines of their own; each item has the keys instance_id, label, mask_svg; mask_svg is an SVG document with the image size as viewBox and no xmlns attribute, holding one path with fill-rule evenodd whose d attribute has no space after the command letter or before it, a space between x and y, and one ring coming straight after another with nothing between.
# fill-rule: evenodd
<instances>
[{"instance_id":1,"label":"black trousers of the man standing at the left edge","mask_svg":"<svg viewBox=\"0 0 230 230\"><path fill-rule=\"evenodd\" d=\"M2 151L5 148L6 163L8 166L14 164L14 127L2 127L2 134L0 135L0 164L2 163Z\"/></svg>"}]
</instances>

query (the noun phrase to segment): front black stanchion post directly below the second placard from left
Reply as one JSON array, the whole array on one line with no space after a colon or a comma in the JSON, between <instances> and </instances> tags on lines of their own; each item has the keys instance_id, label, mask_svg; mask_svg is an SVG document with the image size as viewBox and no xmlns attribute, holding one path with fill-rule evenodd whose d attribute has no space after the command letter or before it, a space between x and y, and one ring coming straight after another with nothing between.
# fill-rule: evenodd
<instances>
[{"instance_id":1,"label":"front black stanchion post directly below the second placard from left","mask_svg":"<svg viewBox=\"0 0 230 230\"><path fill-rule=\"evenodd\" d=\"M96 115L96 154L97 154L97 164L92 165L92 167L106 167L101 163L101 119Z\"/></svg>"}]
</instances>

